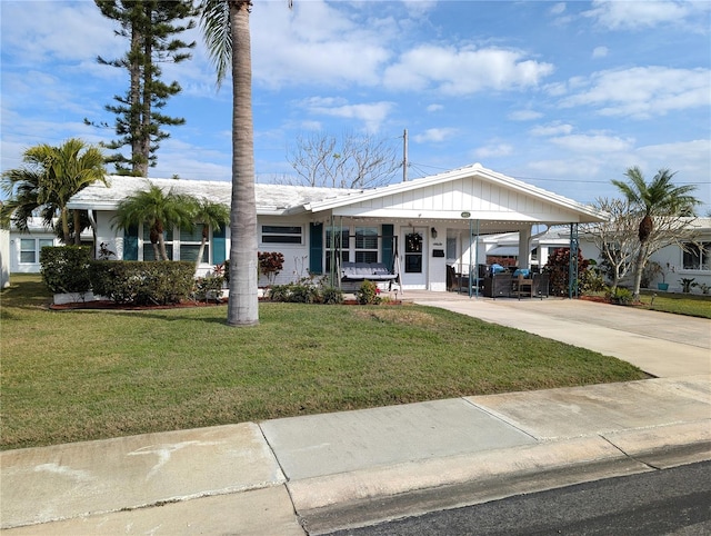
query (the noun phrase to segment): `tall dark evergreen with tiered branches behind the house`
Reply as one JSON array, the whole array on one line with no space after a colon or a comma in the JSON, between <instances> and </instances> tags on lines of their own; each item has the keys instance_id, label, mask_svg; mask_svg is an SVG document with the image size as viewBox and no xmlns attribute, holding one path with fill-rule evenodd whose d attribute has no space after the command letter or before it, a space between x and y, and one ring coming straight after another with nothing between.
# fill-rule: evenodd
<instances>
[{"instance_id":1,"label":"tall dark evergreen with tiered branches behind the house","mask_svg":"<svg viewBox=\"0 0 711 536\"><path fill-rule=\"evenodd\" d=\"M159 63L179 63L190 59L188 50L196 46L177 36L196 26L198 14L191 0L96 0L101 14L120 24L116 34L129 40L129 51L122 58L101 64L126 69L130 85L123 96L114 96L116 105L106 109L116 115L119 139L107 143L111 150L129 146L131 155L116 152L107 159L120 175L148 177L149 166L156 166L160 141L170 135L163 126L183 125L183 118L161 112L168 99L181 91L177 81L163 82ZM91 123L88 119L84 122Z\"/></svg>"}]
</instances>

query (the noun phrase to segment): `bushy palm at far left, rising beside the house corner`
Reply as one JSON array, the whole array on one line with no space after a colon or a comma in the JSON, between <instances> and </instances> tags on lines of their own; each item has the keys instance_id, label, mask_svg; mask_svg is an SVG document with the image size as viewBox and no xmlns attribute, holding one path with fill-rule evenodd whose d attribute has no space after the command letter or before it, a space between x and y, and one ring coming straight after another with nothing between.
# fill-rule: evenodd
<instances>
[{"instance_id":1,"label":"bushy palm at far left, rising beside the house corner","mask_svg":"<svg viewBox=\"0 0 711 536\"><path fill-rule=\"evenodd\" d=\"M22 156L24 166L2 173L2 190L11 196L2 208L7 226L12 220L27 230L28 219L39 209L47 227L53 228L59 215L64 244L71 242L69 199L87 186L106 182L104 157L101 149L70 138L59 147L34 146ZM72 211L74 244L81 244L80 212Z\"/></svg>"}]
</instances>

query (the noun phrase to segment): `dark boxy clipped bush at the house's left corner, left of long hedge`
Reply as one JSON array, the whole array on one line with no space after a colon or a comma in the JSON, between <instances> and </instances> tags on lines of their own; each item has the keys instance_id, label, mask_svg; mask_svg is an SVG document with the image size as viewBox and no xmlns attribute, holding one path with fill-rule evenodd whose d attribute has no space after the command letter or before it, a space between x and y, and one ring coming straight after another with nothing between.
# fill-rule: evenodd
<instances>
[{"instance_id":1,"label":"dark boxy clipped bush at the house's left corner, left of long hedge","mask_svg":"<svg viewBox=\"0 0 711 536\"><path fill-rule=\"evenodd\" d=\"M42 280L52 294L88 292L90 261L88 246L46 246L40 250Z\"/></svg>"}]
</instances>

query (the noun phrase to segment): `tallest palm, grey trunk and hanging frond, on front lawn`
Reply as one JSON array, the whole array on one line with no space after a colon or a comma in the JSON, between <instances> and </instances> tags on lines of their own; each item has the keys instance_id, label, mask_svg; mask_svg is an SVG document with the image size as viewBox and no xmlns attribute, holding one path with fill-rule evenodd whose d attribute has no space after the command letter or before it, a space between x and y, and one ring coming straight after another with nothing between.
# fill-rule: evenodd
<instances>
[{"instance_id":1,"label":"tallest palm, grey trunk and hanging frond, on front lawn","mask_svg":"<svg viewBox=\"0 0 711 536\"><path fill-rule=\"evenodd\" d=\"M203 0L201 26L218 87L232 73L232 199L230 207L230 326L259 324L257 206L252 122L251 0Z\"/></svg>"}]
</instances>

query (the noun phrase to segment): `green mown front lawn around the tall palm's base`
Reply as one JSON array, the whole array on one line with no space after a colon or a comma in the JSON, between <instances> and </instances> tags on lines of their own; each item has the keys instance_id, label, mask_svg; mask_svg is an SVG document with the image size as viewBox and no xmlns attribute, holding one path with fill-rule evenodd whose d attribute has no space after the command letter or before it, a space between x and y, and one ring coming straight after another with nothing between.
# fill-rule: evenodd
<instances>
[{"instance_id":1,"label":"green mown front lawn around the tall palm's base","mask_svg":"<svg viewBox=\"0 0 711 536\"><path fill-rule=\"evenodd\" d=\"M37 276L1 294L0 448L644 378L635 367L420 306L51 311Z\"/></svg>"}]
</instances>

